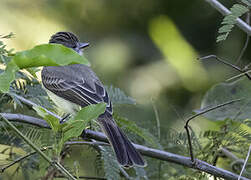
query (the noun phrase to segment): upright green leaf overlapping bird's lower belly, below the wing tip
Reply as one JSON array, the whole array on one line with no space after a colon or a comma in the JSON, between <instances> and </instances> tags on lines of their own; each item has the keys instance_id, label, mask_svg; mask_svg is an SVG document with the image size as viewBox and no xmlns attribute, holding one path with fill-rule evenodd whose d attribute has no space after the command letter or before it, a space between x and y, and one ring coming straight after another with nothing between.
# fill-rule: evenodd
<instances>
[{"instance_id":1,"label":"upright green leaf overlapping bird's lower belly, below the wing tip","mask_svg":"<svg viewBox=\"0 0 251 180\"><path fill-rule=\"evenodd\" d=\"M67 121L67 125L63 127L63 141L65 142L70 138L80 136L88 123L104 113L105 109L106 103L92 104L82 108L77 115Z\"/></svg>"}]
</instances>

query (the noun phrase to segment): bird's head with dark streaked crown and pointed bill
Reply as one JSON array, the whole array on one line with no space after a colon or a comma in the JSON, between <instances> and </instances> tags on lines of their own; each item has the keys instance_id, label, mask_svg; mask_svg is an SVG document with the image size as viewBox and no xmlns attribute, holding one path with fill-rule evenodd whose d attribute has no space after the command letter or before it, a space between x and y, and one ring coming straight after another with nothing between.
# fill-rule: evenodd
<instances>
[{"instance_id":1,"label":"bird's head with dark streaked crown and pointed bill","mask_svg":"<svg viewBox=\"0 0 251 180\"><path fill-rule=\"evenodd\" d=\"M89 46L89 43L82 43L78 37L71 32L57 32L52 35L49 43L62 44L82 55L82 49Z\"/></svg>"}]
</instances>

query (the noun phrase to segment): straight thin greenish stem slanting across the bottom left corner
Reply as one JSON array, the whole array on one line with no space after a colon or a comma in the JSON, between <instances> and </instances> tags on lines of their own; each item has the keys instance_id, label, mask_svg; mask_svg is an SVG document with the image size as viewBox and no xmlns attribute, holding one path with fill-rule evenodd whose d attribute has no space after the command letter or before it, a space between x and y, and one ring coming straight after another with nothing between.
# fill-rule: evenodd
<instances>
[{"instance_id":1,"label":"straight thin greenish stem slanting across the bottom left corner","mask_svg":"<svg viewBox=\"0 0 251 180\"><path fill-rule=\"evenodd\" d=\"M53 166L55 166L56 168L58 168L63 174L65 174L67 177L69 177L70 179L75 180L75 178L71 175L71 173L69 173L60 163L55 162L53 160L51 160L43 151L41 151L33 142L31 142L26 136L24 136L8 119L6 119L5 117L3 117L0 114L0 118L3 119L3 121L8 124L9 127L11 127L11 129L13 129L18 136L20 136L20 138L22 140L24 140L32 149L34 149L35 151L37 151L37 153L42 156L48 163L52 164Z\"/></svg>"}]
</instances>

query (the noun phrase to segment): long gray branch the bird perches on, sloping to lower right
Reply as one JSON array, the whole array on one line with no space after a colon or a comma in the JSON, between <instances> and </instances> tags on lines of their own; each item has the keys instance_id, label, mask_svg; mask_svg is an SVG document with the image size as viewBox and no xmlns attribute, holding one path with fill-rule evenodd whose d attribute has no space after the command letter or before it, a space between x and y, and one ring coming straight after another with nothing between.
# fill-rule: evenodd
<instances>
[{"instance_id":1,"label":"long gray branch the bird perches on, sloping to lower right","mask_svg":"<svg viewBox=\"0 0 251 180\"><path fill-rule=\"evenodd\" d=\"M49 128L49 125L48 124L46 125L46 122L42 119L39 119L39 121L37 121L38 118L24 116L24 115L23 116L14 115L14 114L10 114L10 113L0 113L0 115L5 117L6 119L9 119L12 121L28 123L28 124L36 125L36 126L43 127L43 128ZM15 118L13 118L13 117L15 117ZM18 119L18 117L22 117L22 118ZM29 117L29 118L25 119L25 117ZM87 130L85 130L84 136L91 138L91 139L95 139L97 141L108 142L106 136L101 132L95 132L95 131L87 129ZM160 159L163 161L173 162L175 164L179 164L179 165L182 165L185 167L197 169L199 171L203 171L208 174L212 174L214 176L229 179L229 180L238 179L238 175L236 175L230 171L227 171L227 170L224 170L221 168L217 168L211 164L208 164L208 163L201 161L201 160L198 160L198 159L195 159L195 163L193 163L190 160L190 157L185 157L185 156L177 155L174 153L149 148L149 147L142 146L139 144L134 144L134 146L144 156L152 157L155 159ZM241 177L241 179L248 180L248 178L245 178L245 177Z\"/></svg>"}]
</instances>

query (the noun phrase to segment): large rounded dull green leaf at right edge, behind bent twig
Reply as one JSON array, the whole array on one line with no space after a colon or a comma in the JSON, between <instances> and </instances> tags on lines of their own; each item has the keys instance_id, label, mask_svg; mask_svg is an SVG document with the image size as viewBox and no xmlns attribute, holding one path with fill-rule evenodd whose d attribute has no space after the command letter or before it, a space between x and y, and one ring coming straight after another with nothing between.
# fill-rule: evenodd
<instances>
[{"instance_id":1,"label":"large rounded dull green leaf at right edge, behind bent twig","mask_svg":"<svg viewBox=\"0 0 251 180\"><path fill-rule=\"evenodd\" d=\"M211 120L245 120L251 117L251 82L247 78L232 83L219 83L204 96L201 109L210 108L227 101L243 99L204 114Z\"/></svg>"}]
</instances>

